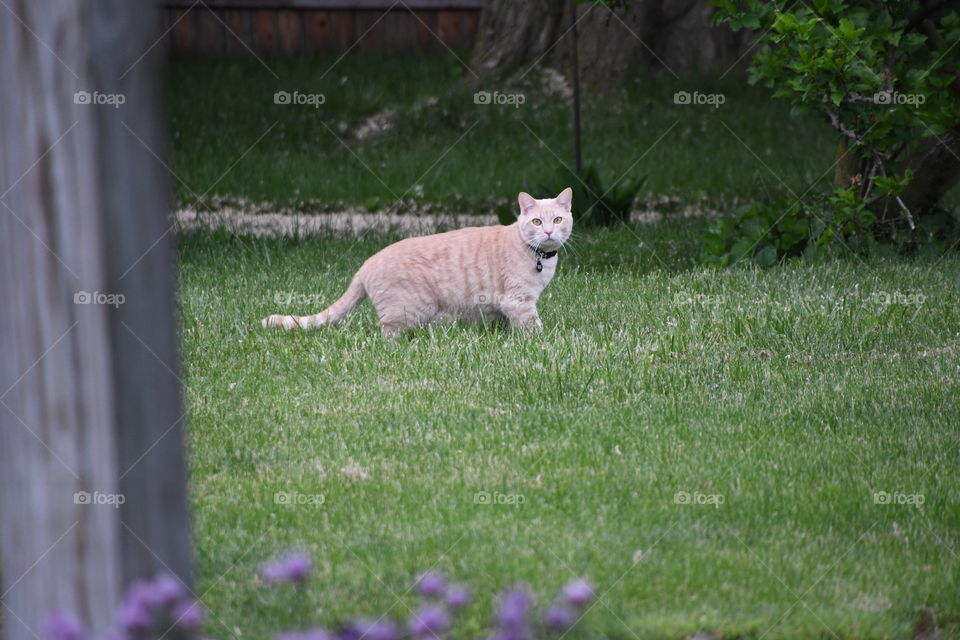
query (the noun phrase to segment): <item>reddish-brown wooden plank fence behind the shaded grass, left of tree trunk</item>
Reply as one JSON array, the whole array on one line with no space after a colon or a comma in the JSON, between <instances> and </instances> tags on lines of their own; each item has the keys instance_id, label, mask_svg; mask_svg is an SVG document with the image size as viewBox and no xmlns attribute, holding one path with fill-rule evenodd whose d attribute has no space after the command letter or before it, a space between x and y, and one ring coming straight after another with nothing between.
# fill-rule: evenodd
<instances>
[{"instance_id":1,"label":"reddish-brown wooden plank fence behind the shaded grass, left of tree trunk","mask_svg":"<svg viewBox=\"0 0 960 640\"><path fill-rule=\"evenodd\" d=\"M164 0L174 55L463 49L481 0Z\"/></svg>"}]
</instances>

